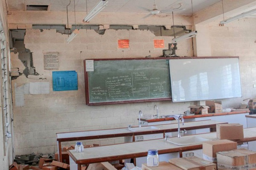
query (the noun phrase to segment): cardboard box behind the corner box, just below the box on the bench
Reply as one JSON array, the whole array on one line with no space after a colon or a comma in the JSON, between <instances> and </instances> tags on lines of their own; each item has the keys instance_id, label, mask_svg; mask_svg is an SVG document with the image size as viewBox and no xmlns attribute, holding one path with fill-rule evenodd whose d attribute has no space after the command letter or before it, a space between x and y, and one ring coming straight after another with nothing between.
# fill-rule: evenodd
<instances>
[{"instance_id":1,"label":"cardboard box behind the corner box, just below the box on the bench","mask_svg":"<svg viewBox=\"0 0 256 170\"><path fill-rule=\"evenodd\" d=\"M228 151L237 149L237 143L234 141L216 140L203 142L203 158L206 161L217 162L216 153L220 151Z\"/></svg>"}]
</instances>

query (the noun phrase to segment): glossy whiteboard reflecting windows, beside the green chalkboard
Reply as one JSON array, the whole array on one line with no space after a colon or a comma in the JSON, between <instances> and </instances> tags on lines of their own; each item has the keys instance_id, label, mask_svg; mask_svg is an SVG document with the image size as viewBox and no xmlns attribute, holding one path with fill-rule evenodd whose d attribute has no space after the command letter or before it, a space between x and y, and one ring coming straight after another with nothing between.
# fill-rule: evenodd
<instances>
[{"instance_id":1,"label":"glossy whiteboard reflecting windows, beside the green chalkboard","mask_svg":"<svg viewBox=\"0 0 256 170\"><path fill-rule=\"evenodd\" d=\"M169 60L172 101L241 97L239 58Z\"/></svg>"}]
</instances>

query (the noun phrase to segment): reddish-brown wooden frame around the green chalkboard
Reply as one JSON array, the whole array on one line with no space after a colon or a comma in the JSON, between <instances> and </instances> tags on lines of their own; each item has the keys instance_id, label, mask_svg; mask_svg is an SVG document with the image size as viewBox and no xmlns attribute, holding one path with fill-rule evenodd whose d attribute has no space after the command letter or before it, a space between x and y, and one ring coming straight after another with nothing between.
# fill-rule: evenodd
<instances>
[{"instance_id":1,"label":"reddish-brown wooden frame around the green chalkboard","mask_svg":"<svg viewBox=\"0 0 256 170\"><path fill-rule=\"evenodd\" d=\"M93 61L122 61L122 60L168 60L169 58L108 58L108 59L93 59ZM90 60L90 59L88 59ZM85 83L85 101L89 106L103 105L103 104L123 104L123 103L137 103L145 101L171 101L172 98L154 98L154 99L139 99L139 100L128 100L128 101L109 101L109 102L97 102L90 103L89 100L89 81L88 74L86 72L86 60L84 60L84 83Z\"/></svg>"}]
</instances>

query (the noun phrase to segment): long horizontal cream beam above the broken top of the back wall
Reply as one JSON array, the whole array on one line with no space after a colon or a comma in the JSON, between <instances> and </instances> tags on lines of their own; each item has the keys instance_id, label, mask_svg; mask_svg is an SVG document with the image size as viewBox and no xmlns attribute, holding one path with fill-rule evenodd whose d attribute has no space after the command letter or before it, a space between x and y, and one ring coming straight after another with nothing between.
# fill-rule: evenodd
<instances>
[{"instance_id":1,"label":"long horizontal cream beam above the broken top of the back wall","mask_svg":"<svg viewBox=\"0 0 256 170\"><path fill-rule=\"evenodd\" d=\"M172 14L159 14L145 19L144 13L113 13L100 12L90 20L90 23L83 23L86 12L76 12L76 24L99 24L99 25L172 25ZM164 17L163 17L164 16ZM192 25L192 17L184 15L174 16L175 25ZM66 12L26 12L10 11L8 14L9 24L67 24ZM74 24L74 13L69 12L69 24Z\"/></svg>"}]
</instances>

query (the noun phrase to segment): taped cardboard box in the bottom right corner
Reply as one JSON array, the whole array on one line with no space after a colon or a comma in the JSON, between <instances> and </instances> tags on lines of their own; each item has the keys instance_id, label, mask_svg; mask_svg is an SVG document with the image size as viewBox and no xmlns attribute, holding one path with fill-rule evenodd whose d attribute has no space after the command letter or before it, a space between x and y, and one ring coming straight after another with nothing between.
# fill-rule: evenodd
<instances>
[{"instance_id":1,"label":"taped cardboard box in the bottom right corner","mask_svg":"<svg viewBox=\"0 0 256 170\"><path fill-rule=\"evenodd\" d=\"M256 170L256 152L244 148L217 153L218 170Z\"/></svg>"}]
</instances>

